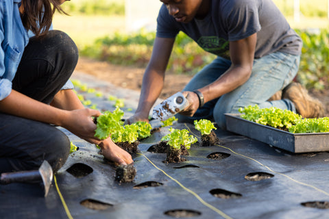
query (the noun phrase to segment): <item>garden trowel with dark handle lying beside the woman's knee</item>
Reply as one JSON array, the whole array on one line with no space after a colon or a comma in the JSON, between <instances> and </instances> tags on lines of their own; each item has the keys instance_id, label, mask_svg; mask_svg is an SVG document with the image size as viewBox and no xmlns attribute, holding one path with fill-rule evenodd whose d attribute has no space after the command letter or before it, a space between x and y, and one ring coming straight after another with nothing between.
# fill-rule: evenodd
<instances>
[{"instance_id":1,"label":"garden trowel with dark handle lying beside the woman's knee","mask_svg":"<svg viewBox=\"0 0 329 219\"><path fill-rule=\"evenodd\" d=\"M33 183L41 180L45 189L45 196L47 196L51 181L53 180L53 169L46 160L42 162L38 170L3 172L0 176L0 184Z\"/></svg>"}]
</instances>

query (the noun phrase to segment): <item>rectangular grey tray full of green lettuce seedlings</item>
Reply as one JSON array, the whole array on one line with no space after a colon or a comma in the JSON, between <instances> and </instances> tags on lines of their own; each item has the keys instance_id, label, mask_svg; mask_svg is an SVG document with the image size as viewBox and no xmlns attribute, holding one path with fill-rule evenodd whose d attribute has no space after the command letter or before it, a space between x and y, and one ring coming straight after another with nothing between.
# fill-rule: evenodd
<instances>
[{"instance_id":1,"label":"rectangular grey tray full of green lettuce seedlings","mask_svg":"<svg viewBox=\"0 0 329 219\"><path fill-rule=\"evenodd\" d=\"M292 153L329 151L329 118L302 118L289 110L256 106L225 114L228 131Z\"/></svg>"}]
</instances>

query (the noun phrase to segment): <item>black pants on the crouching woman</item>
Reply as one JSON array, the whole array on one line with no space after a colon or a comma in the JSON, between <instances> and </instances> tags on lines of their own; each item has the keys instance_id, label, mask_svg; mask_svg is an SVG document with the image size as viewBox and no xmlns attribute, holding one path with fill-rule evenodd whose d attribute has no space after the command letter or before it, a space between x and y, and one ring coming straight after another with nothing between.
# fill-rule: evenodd
<instances>
[{"instance_id":1,"label":"black pants on the crouching woman","mask_svg":"<svg viewBox=\"0 0 329 219\"><path fill-rule=\"evenodd\" d=\"M71 77L77 59L75 43L62 31L31 38L12 89L49 104ZM56 172L66 162L69 149L69 138L56 127L0 113L0 173L38 169L43 160Z\"/></svg>"}]
</instances>

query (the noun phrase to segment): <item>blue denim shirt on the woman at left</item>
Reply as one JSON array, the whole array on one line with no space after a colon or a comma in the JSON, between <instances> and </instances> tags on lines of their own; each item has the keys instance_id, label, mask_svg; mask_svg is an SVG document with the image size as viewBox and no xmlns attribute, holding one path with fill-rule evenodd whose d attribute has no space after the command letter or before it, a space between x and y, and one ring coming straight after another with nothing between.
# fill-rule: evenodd
<instances>
[{"instance_id":1,"label":"blue denim shirt on the woman at left","mask_svg":"<svg viewBox=\"0 0 329 219\"><path fill-rule=\"evenodd\" d=\"M29 37L33 35L23 26L19 5L21 0L0 1L0 101L12 92L12 80ZM67 81L62 89L72 88L71 81Z\"/></svg>"}]
</instances>

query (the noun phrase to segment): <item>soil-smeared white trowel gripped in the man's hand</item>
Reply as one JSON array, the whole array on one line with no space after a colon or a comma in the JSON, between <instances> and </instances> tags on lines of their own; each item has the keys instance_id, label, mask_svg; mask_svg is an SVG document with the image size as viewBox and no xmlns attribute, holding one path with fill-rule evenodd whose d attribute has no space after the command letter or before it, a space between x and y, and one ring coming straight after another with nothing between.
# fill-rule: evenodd
<instances>
[{"instance_id":1,"label":"soil-smeared white trowel gripped in the man's hand","mask_svg":"<svg viewBox=\"0 0 329 219\"><path fill-rule=\"evenodd\" d=\"M188 105L188 101L182 92L177 92L165 99L153 109L153 118L164 121L178 114Z\"/></svg>"}]
</instances>

